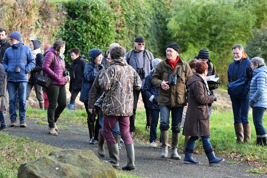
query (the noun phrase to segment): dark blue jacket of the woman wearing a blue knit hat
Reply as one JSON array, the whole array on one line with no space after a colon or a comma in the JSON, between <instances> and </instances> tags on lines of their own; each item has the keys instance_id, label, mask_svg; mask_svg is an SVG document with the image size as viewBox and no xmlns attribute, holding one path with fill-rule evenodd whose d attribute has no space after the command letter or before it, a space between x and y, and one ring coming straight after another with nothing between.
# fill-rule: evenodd
<instances>
[{"instance_id":1,"label":"dark blue jacket of the woman wearing a blue knit hat","mask_svg":"<svg viewBox=\"0 0 267 178\"><path fill-rule=\"evenodd\" d=\"M88 104L89 92L93 85L94 79L96 78L97 73L99 72L98 69L94 68L95 64L95 62L89 62L84 66L80 101L86 104Z\"/></svg>"}]
</instances>

